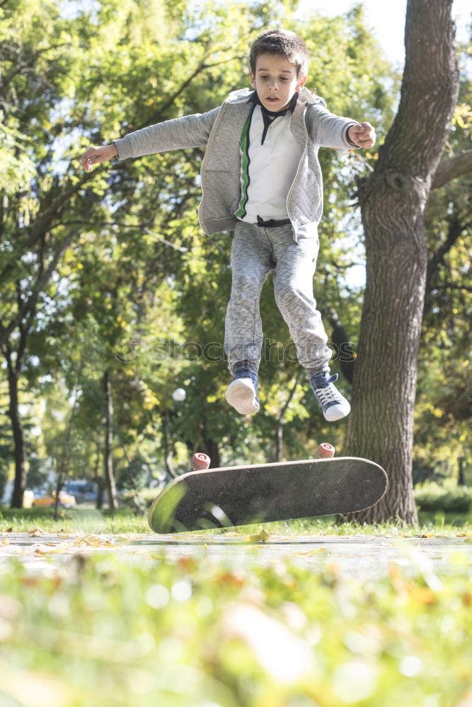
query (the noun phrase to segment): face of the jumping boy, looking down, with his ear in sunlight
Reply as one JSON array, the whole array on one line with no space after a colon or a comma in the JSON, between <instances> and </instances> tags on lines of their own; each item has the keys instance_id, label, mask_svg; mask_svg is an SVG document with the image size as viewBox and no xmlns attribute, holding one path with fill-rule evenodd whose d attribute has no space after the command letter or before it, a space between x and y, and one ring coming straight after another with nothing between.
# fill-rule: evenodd
<instances>
[{"instance_id":1,"label":"face of the jumping boy, looking down, with his ear in sunlight","mask_svg":"<svg viewBox=\"0 0 472 707\"><path fill-rule=\"evenodd\" d=\"M306 76L297 78L297 67L279 54L260 54L255 74L249 72L251 86L258 92L260 103L267 110L284 110L295 91L306 83Z\"/></svg>"}]
</instances>

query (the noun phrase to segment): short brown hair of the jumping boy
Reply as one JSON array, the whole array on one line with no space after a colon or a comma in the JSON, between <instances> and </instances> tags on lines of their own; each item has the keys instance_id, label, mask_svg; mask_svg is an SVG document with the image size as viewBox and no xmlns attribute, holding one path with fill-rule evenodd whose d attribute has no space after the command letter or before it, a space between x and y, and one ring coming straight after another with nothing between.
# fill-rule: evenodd
<instances>
[{"instance_id":1,"label":"short brown hair of the jumping boy","mask_svg":"<svg viewBox=\"0 0 472 707\"><path fill-rule=\"evenodd\" d=\"M309 52L304 40L292 30L265 30L253 42L249 54L251 71L255 74L255 64L260 54L279 54L297 68L297 78L308 74Z\"/></svg>"}]
</instances>

